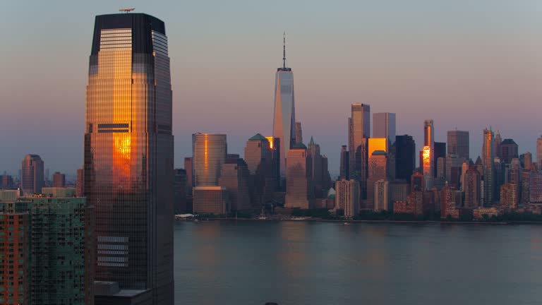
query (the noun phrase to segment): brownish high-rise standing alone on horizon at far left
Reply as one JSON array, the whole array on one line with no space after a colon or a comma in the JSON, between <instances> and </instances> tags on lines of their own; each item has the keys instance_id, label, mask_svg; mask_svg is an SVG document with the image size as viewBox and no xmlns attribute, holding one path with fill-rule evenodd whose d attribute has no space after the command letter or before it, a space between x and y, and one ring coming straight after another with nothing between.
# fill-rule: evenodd
<instances>
[{"instance_id":1,"label":"brownish high-rise standing alone on horizon at far left","mask_svg":"<svg viewBox=\"0 0 542 305\"><path fill-rule=\"evenodd\" d=\"M42 193L43 160L39 155L26 155L20 167L20 189L25 195Z\"/></svg>"}]
</instances>

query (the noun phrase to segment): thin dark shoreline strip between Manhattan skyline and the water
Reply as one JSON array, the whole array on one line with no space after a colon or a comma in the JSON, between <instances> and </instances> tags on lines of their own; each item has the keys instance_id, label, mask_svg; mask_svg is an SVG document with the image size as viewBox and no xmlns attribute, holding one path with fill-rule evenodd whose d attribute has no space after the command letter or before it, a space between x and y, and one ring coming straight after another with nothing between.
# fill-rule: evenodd
<instances>
[{"instance_id":1,"label":"thin dark shoreline strip between Manhattan skyline and the water","mask_svg":"<svg viewBox=\"0 0 542 305\"><path fill-rule=\"evenodd\" d=\"M203 222L210 221L253 221L253 222L342 222L342 223L392 223L392 224L445 224L445 225L542 225L542 222L533 222L533 221L511 221L511 222L480 222L480 221L471 221L471 222L447 222L447 221L437 221L437 220L325 220L325 219L255 219L255 218L209 218L208 220L203 220ZM193 222L193 220L175 220L176 222ZM202 220L199 220L202 222Z\"/></svg>"}]
</instances>

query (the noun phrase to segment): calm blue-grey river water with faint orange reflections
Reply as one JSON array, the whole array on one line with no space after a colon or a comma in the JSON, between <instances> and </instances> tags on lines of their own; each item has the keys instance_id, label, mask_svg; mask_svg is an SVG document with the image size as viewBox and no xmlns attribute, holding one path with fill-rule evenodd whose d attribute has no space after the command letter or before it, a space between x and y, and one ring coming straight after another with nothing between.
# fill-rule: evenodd
<instances>
[{"instance_id":1,"label":"calm blue-grey river water with faint orange reflections","mask_svg":"<svg viewBox=\"0 0 542 305\"><path fill-rule=\"evenodd\" d=\"M176 304L542 304L542 225L176 222Z\"/></svg>"}]
</instances>

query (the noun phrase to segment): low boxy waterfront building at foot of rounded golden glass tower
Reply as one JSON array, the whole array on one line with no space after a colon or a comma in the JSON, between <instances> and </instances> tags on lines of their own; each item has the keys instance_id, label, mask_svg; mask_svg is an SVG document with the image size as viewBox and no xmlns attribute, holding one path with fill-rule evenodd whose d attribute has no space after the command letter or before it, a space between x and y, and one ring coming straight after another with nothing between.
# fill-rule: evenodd
<instances>
[{"instance_id":1,"label":"low boxy waterfront building at foot of rounded golden glass tower","mask_svg":"<svg viewBox=\"0 0 542 305\"><path fill-rule=\"evenodd\" d=\"M230 212L229 193L222 186L195 186L193 213L227 215Z\"/></svg>"}]
</instances>

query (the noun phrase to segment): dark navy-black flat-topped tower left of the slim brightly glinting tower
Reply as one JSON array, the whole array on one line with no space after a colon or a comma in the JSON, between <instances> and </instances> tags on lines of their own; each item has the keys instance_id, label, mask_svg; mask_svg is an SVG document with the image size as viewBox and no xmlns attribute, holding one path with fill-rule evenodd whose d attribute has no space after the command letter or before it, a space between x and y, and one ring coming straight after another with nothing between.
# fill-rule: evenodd
<instances>
[{"instance_id":1,"label":"dark navy-black flat-topped tower left of the slim brightly glinting tower","mask_svg":"<svg viewBox=\"0 0 542 305\"><path fill-rule=\"evenodd\" d=\"M412 136L395 136L395 179L410 182L416 168L416 143Z\"/></svg>"}]
</instances>

